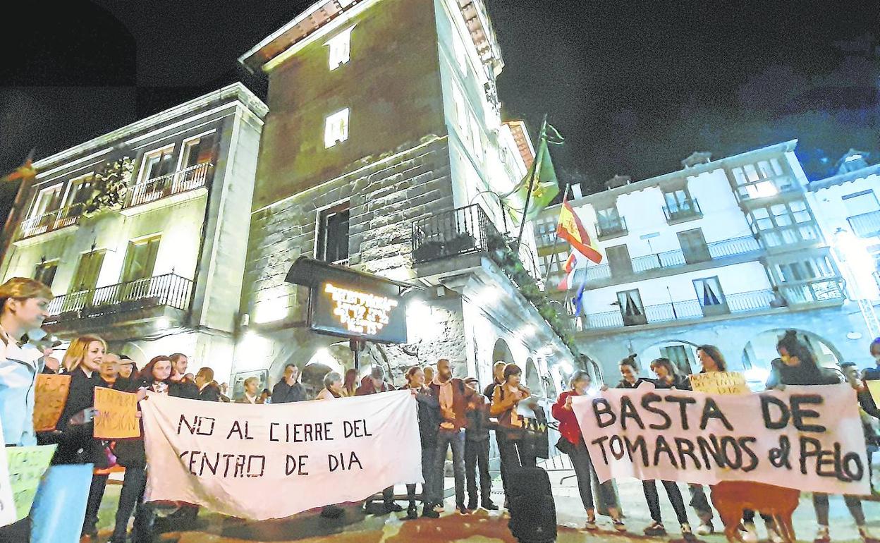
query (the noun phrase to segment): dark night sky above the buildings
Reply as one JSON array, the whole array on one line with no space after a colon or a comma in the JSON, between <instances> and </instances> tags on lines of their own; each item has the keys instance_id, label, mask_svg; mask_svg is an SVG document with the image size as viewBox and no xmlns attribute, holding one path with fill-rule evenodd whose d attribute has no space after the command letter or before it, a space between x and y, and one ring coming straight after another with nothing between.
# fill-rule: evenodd
<instances>
[{"instance_id":1,"label":"dark night sky above the buildings","mask_svg":"<svg viewBox=\"0 0 880 543\"><path fill-rule=\"evenodd\" d=\"M312 0L22 3L6 26L0 166L99 136L237 79L236 58ZM602 187L799 137L812 176L880 159L875 0L488 0L510 118L542 114L563 179ZM27 11L31 12L27 12ZM873 33L873 34L872 34Z\"/></svg>"}]
</instances>

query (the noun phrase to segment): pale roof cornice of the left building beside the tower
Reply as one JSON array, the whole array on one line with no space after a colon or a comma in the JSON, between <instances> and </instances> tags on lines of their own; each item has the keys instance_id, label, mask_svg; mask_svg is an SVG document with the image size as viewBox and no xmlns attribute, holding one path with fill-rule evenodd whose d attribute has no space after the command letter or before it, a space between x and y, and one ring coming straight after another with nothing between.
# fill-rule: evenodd
<instances>
[{"instance_id":1,"label":"pale roof cornice of the left building beside the tower","mask_svg":"<svg viewBox=\"0 0 880 543\"><path fill-rule=\"evenodd\" d=\"M140 121L135 121L122 128L117 128L113 132L109 132L103 136L92 138L91 140L85 143L80 143L70 149L62 150L61 152L55 153L47 158L41 158L36 161L33 166L40 171L40 174L45 174L48 170L51 170L53 166L67 162L72 158L79 158L82 155L88 155L89 157L100 155L106 152L109 148L112 148L114 144L120 143L131 136L139 135L145 130L149 130L155 126L186 116L187 114L193 114L206 106L213 106L224 101L229 102L229 105L231 106L236 106L248 111L250 114L253 114L260 119L260 121L262 121L262 119L268 114L268 106L266 106L262 100L257 98L253 92L248 90L244 84L233 83L222 89L218 89L217 91L209 92L196 99L184 102L179 106L173 106L169 109L165 109L165 111L159 112L158 114L150 115Z\"/></svg>"}]
</instances>

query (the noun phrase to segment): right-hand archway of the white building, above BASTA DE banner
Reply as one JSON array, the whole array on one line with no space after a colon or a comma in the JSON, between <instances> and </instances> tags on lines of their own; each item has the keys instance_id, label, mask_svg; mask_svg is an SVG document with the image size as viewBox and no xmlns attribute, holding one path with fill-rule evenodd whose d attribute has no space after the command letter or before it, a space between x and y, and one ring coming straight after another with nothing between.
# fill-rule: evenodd
<instances>
[{"instance_id":1,"label":"right-hand archway of the white building, above BASTA DE banner","mask_svg":"<svg viewBox=\"0 0 880 543\"><path fill-rule=\"evenodd\" d=\"M728 362L730 371L743 371L752 390L763 388L766 378L770 374L770 364L779 358L779 353L776 352L776 343L786 333L786 330L788 328L774 328L752 337L745 344L738 363ZM840 351L834 347L831 341L806 330L796 330L796 332L797 339L803 341L812 350L819 366L832 369L840 367L840 363L843 362Z\"/></svg>"}]
</instances>

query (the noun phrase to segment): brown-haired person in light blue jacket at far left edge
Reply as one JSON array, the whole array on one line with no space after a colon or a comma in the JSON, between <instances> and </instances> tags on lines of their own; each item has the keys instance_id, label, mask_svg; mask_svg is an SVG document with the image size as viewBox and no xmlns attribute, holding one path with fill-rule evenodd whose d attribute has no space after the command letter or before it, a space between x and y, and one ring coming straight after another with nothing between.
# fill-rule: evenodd
<instances>
[{"instance_id":1,"label":"brown-haired person in light blue jacket at far left edge","mask_svg":"<svg viewBox=\"0 0 880 543\"><path fill-rule=\"evenodd\" d=\"M48 317L52 291L39 281L14 277L0 285L0 419L5 446L37 444L33 431L33 398L42 353L31 344L18 345ZM30 519L0 527L0 539L26 541Z\"/></svg>"}]
</instances>

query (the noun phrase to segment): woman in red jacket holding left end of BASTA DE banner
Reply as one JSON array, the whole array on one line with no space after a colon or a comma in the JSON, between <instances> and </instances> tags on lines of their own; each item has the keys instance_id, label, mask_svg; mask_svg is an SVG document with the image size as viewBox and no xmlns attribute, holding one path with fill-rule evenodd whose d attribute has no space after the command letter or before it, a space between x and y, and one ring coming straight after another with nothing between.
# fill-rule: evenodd
<instances>
[{"instance_id":1,"label":"woman in red jacket holding left end of BASTA DE banner","mask_svg":"<svg viewBox=\"0 0 880 543\"><path fill-rule=\"evenodd\" d=\"M583 508L587 511L587 523L584 526L587 530L596 530L596 506L593 502L593 493L590 484L595 484L600 499L607 504L608 514L612 518L614 529L618 532L626 532L627 526L620 519L620 507L617 502L617 495L614 493L614 483L612 480L599 484L596 470L590 461L590 451L587 450L587 444L583 441L581 428L577 423L575 412L571 409L571 399L574 396L583 396L590 389L590 373L583 370L575 371L568 382L571 390L560 394L556 403L554 403L551 412L554 419L559 421L559 433L565 442L560 441L561 451L568 454L571 459L572 466L575 467L575 475L577 478L577 489L581 493L581 502ZM560 447L560 445L557 445Z\"/></svg>"}]
</instances>

